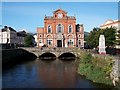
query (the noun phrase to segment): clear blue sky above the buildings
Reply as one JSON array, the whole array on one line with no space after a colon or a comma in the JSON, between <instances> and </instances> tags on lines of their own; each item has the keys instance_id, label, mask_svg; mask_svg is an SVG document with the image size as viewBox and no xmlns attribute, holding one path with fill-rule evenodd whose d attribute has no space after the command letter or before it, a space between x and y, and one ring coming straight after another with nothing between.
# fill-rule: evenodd
<instances>
[{"instance_id":1,"label":"clear blue sky above the buildings","mask_svg":"<svg viewBox=\"0 0 120 90\"><path fill-rule=\"evenodd\" d=\"M83 24L87 32L108 19L118 19L117 2L2 2L2 25L36 33L37 27L44 27L45 15L52 16L59 8L75 15L76 24Z\"/></svg>"}]
</instances>

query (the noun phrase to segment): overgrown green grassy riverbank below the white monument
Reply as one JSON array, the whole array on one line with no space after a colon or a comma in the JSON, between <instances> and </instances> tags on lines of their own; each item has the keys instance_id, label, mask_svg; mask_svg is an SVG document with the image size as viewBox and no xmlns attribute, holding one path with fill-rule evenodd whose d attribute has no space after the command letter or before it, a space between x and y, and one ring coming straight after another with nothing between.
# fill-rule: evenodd
<instances>
[{"instance_id":1,"label":"overgrown green grassy riverbank below the white monument","mask_svg":"<svg viewBox=\"0 0 120 90\"><path fill-rule=\"evenodd\" d=\"M112 85L110 73L113 61L108 56L92 56L90 53L81 52L78 73L86 76L87 79L96 83Z\"/></svg>"}]
</instances>

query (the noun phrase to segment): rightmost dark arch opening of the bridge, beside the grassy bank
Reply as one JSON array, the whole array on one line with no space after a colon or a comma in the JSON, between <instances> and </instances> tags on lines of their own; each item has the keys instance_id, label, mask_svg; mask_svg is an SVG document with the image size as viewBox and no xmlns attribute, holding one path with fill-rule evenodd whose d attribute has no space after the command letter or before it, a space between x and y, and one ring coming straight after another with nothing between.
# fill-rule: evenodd
<instances>
[{"instance_id":1,"label":"rightmost dark arch opening of the bridge, beside the grassy bank","mask_svg":"<svg viewBox=\"0 0 120 90\"><path fill-rule=\"evenodd\" d=\"M73 60L76 58L76 55L73 52L65 52L65 53L61 53L58 58Z\"/></svg>"}]
</instances>

